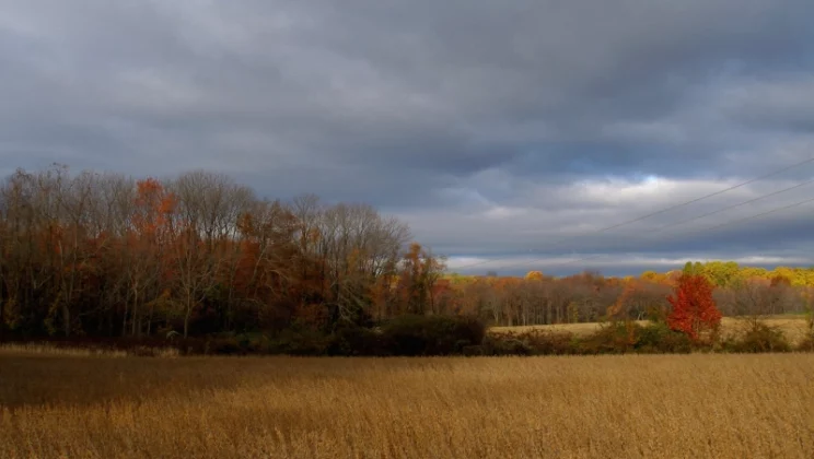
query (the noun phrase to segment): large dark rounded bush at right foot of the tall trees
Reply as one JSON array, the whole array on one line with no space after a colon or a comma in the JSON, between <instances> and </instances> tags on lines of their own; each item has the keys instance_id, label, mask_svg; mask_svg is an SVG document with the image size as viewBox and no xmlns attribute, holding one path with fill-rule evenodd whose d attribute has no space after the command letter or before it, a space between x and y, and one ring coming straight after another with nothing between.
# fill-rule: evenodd
<instances>
[{"instance_id":1,"label":"large dark rounded bush at right foot of the tall trees","mask_svg":"<svg viewBox=\"0 0 814 459\"><path fill-rule=\"evenodd\" d=\"M383 341L392 355L461 354L465 346L482 343L484 322L458 316L400 316L382 326Z\"/></svg>"}]
</instances>

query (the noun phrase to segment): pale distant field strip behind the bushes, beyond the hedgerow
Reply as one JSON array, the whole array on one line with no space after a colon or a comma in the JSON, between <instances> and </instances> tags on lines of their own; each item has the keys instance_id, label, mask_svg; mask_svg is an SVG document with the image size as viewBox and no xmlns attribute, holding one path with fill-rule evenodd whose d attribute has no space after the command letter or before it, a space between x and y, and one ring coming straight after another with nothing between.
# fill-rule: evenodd
<instances>
[{"instance_id":1,"label":"pale distant field strip behind the bushes, beyond the hedgerow","mask_svg":"<svg viewBox=\"0 0 814 459\"><path fill-rule=\"evenodd\" d=\"M746 318L724 317L723 320L721 320L723 337L739 333L747 327L746 321ZM805 316L771 316L761 321L770 327L779 328L792 345L799 344L806 336L807 323L805 321ZM649 322L647 320L639 320L638 323L648 325ZM531 330L545 330L553 332L571 332L578 336L584 336L596 331L600 326L598 322L558 323L530 327L492 327L489 331L492 333L504 333L508 331L525 332Z\"/></svg>"}]
</instances>

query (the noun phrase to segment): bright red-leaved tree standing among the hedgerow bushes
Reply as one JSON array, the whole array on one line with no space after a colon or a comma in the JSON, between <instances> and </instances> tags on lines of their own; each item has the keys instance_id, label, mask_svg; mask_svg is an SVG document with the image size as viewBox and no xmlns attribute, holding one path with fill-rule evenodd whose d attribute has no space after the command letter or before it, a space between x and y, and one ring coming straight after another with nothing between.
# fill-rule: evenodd
<instances>
[{"instance_id":1,"label":"bright red-leaved tree standing among the hedgerow bushes","mask_svg":"<svg viewBox=\"0 0 814 459\"><path fill-rule=\"evenodd\" d=\"M701 274L682 275L667 301L673 305L667 325L694 340L698 339L699 331L716 329L721 323L721 311L712 298L712 284Z\"/></svg>"}]
</instances>

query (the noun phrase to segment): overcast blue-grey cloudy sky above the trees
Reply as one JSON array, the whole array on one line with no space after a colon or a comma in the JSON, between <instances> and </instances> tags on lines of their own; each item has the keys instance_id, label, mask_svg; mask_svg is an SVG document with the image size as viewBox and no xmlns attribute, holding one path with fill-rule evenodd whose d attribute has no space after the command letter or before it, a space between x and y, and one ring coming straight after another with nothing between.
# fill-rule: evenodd
<instances>
[{"instance_id":1,"label":"overcast blue-grey cloudy sky above the trees","mask_svg":"<svg viewBox=\"0 0 814 459\"><path fill-rule=\"evenodd\" d=\"M0 0L0 175L228 173L373 204L462 273L811 266L814 203L749 217L814 184L696 217L814 163L602 229L814 157L812 17L795 0Z\"/></svg>"}]
</instances>

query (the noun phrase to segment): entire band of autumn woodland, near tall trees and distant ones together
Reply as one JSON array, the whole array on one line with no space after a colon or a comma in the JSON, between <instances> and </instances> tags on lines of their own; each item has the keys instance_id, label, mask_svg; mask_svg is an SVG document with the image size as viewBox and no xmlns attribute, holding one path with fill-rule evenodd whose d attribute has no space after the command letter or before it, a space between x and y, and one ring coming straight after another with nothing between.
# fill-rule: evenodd
<instances>
[{"instance_id":1,"label":"entire band of autumn woodland, near tall trees and distant ones together","mask_svg":"<svg viewBox=\"0 0 814 459\"><path fill-rule=\"evenodd\" d=\"M810 309L814 269L694 269L724 315ZM260 199L206 172L159 180L55 165L0 188L0 338L329 331L406 314L643 319L664 314L679 275L449 274L406 223L371 205Z\"/></svg>"}]
</instances>

